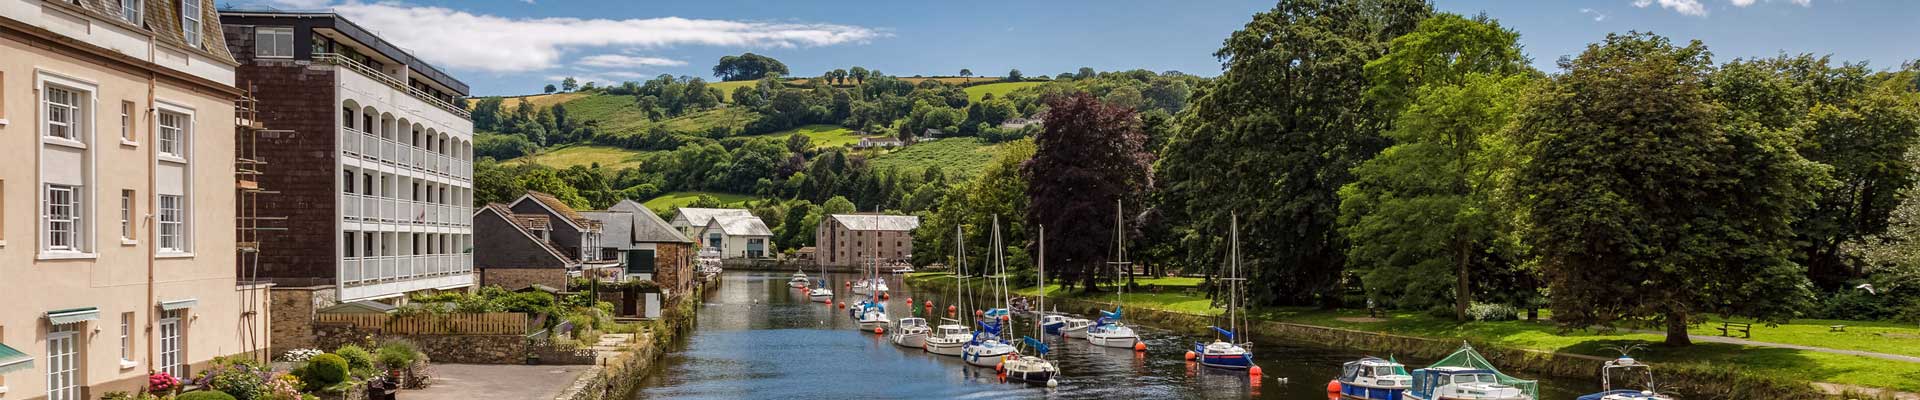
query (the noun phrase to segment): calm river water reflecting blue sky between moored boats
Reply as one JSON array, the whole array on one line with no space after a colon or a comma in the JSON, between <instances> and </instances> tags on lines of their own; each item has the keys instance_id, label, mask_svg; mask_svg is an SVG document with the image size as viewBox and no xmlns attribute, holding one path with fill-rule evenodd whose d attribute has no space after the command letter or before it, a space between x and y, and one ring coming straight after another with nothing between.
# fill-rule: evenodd
<instances>
[{"instance_id":1,"label":"calm river water reflecting blue sky between moored boats","mask_svg":"<svg viewBox=\"0 0 1920 400\"><path fill-rule=\"evenodd\" d=\"M1183 360L1194 340L1152 327L1135 327L1148 352L1098 348L1083 338L1048 337L1062 369L1058 388L1000 383L993 369L960 358L893 346L883 335L856 331L847 310L806 302L787 287L789 273L730 271L710 292L695 333L674 344L664 363L645 377L637 398L1327 398L1327 381L1340 363L1365 354L1256 337L1261 379ZM816 277L818 279L818 277ZM835 302L851 298L845 281L829 275ZM889 277L893 319L906 317L912 290ZM924 298L914 298L924 302ZM935 300L945 310L947 302ZM1031 327L1021 327L1031 333ZM1402 360L1425 365L1430 360ZM1574 398L1597 383L1542 381L1542 398Z\"/></svg>"}]
</instances>

